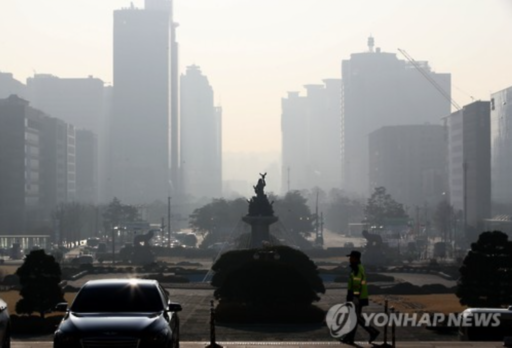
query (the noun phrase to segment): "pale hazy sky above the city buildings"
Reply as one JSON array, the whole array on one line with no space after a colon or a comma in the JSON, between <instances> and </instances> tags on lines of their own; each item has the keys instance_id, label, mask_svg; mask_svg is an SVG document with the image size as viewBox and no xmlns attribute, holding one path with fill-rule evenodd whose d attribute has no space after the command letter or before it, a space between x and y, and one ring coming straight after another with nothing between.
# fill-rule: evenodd
<instances>
[{"instance_id":1,"label":"pale hazy sky above the city buildings","mask_svg":"<svg viewBox=\"0 0 512 348\"><path fill-rule=\"evenodd\" d=\"M0 71L112 81L113 10L129 5L0 0ZM512 85L510 0L175 0L174 10L180 72L198 64L208 77L225 151L280 151L281 98L339 78L370 34L384 52L451 73L460 105Z\"/></svg>"}]
</instances>

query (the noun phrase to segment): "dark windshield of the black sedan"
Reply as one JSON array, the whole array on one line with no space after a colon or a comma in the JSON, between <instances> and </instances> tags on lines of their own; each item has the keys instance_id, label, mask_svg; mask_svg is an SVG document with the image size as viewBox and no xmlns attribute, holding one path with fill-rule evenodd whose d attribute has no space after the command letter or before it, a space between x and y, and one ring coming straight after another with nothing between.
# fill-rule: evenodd
<instances>
[{"instance_id":1,"label":"dark windshield of the black sedan","mask_svg":"<svg viewBox=\"0 0 512 348\"><path fill-rule=\"evenodd\" d=\"M76 295L72 312L159 312L162 297L151 284L105 284L84 286Z\"/></svg>"}]
</instances>

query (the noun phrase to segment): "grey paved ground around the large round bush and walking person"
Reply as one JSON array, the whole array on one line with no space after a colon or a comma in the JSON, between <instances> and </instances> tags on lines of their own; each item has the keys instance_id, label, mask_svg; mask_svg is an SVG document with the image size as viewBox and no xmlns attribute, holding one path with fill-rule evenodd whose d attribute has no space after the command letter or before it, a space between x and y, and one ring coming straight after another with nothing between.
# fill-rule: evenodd
<instances>
[{"instance_id":1,"label":"grey paved ground around the large round bush and walking person","mask_svg":"<svg viewBox=\"0 0 512 348\"><path fill-rule=\"evenodd\" d=\"M83 279L86 280L86 279ZM210 301L214 299L214 290L206 284L204 286L186 287L165 285L170 292L173 301L180 302L183 311L180 312L180 336L184 342L208 342L210 339ZM321 294L321 300L316 302L316 306L329 310L337 303L345 301L346 289L328 288L325 294ZM389 303L390 306L393 303ZM370 306L365 312L380 313L383 312L382 306L370 302ZM223 324L218 322L216 325L216 339L222 342L324 342L340 344L333 338L327 325L318 324ZM377 343L382 343L383 332L377 338ZM15 341L50 341L51 335L39 337L14 337ZM367 334L363 330L358 330L356 341L365 342L368 340ZM458 336L455 331L440 334L425 328L397 328L397 342L458 342ZM388 342L391 342L391 332L388 332ZM233 344L233 343L231 343ZM298 344L298 343L297 343ZM304 343L305 344L305 343ZM242 344L242 346L244 346ZM303 345L307 346L307 345ZM368 345L371 346L371 345Z\"/></svg>"}]
</instances>

